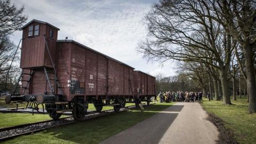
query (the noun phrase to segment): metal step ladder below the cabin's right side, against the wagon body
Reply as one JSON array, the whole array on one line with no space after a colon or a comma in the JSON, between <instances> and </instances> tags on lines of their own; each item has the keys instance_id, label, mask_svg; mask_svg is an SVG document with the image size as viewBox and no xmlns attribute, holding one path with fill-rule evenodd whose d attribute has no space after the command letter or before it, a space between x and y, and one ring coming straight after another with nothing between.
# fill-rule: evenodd
<instances>
[{"instance_id":1,"label":"metal step ladder below the cabin's right side, against the wagon body","mask_svg":"<svg viewBox=\"0 0 256 144\"><path fill-rule=\"evenodd\" d=\"M48 71L45 67L44 67L44 73L45 73L45 76L46 76L46 82L48 83L48 85L50 87L49 92L54 94L55 91L58 89L60 91L60 94L63 94L56 74L54 72ZM49 73L54 74L54 78L50 78ZM52 85L51 81L54 81L53 85ZM45 87L45 89L46 89L46 87Z\"/></svg>"}]
</instances>

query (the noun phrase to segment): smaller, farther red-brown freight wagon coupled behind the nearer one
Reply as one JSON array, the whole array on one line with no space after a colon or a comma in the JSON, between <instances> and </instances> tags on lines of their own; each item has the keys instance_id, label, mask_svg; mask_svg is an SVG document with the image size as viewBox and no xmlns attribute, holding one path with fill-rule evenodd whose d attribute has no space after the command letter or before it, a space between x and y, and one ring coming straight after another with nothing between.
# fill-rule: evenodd
<instances>
[{"instance_id":1,"label":"smaller, farther red-brown freight wagon coupled behind the nearer one","mask_svg":"<svg viewBox=\"0 0 256 144\"><path fill-rule=\"evenodd\" d=\"M151 97L155 97L156 93L156 78L139 70L134 70L134 95L140 101L147 101L149 105Z\"/></svg>"}]
</instances>

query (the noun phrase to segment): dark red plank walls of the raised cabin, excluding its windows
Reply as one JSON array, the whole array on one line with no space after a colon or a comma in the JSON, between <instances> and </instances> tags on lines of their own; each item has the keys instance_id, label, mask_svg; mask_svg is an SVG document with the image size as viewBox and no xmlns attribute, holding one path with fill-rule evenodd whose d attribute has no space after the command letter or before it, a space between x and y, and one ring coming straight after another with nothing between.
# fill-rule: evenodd
<instances>
[{"instance_id":1,"label":"dark red plank walls of the raised cabin, excluding its windows","mask_svg":"<svg viewBox=\"0 0 256 144\"><path fill-rule=\"evenodd\" d=\"M39 25L39 35L28 36L28 27L36 25ZM53 30L53 38L50 38L49 36L50 29ZM20 68L52 67L52 62L43 35L45 35L52 60L55 63L58 30L39 22L31 22L27 27L23 28Z\"/></svg>"}]
</instances>

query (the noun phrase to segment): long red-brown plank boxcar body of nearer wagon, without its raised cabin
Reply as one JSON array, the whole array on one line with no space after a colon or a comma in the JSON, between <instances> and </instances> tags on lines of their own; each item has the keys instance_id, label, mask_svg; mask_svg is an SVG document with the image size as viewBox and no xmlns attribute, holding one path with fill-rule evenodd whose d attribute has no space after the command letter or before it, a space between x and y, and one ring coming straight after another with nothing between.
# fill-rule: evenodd
<instances>
[{"instance_id":1,"label":"long red-brown plank boxcar body of nearer wagon, without its raised cabin","mask_svg":"<svg viewBox=\"0 0 256 144\"><path fill-rule=\"evenodd\" d=\"M67 101L82 96L101 111L102 106L134 99L134 68L73 40L58 40L57 49L58 78Z\"/></svg>"}]
</instances>

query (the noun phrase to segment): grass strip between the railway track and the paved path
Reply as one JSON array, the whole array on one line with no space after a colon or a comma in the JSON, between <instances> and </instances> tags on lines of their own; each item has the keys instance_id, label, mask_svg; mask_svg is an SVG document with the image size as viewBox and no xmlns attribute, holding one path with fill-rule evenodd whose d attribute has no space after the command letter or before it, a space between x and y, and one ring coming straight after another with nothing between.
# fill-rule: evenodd
<instances>
[{"instance_id":1,"label":"grass strip between the railway track and the paved path","mask_svg":"<svg viewBox=\"0 0 256 144\"><path fill-rule=\"evenodd\" d=\"M24 135L3 143L99 143L173 104L174 102L156 103L155 105L144 107L144 111L129 110L93 118L33 135Z\"/></svg>"}]
</instances>

